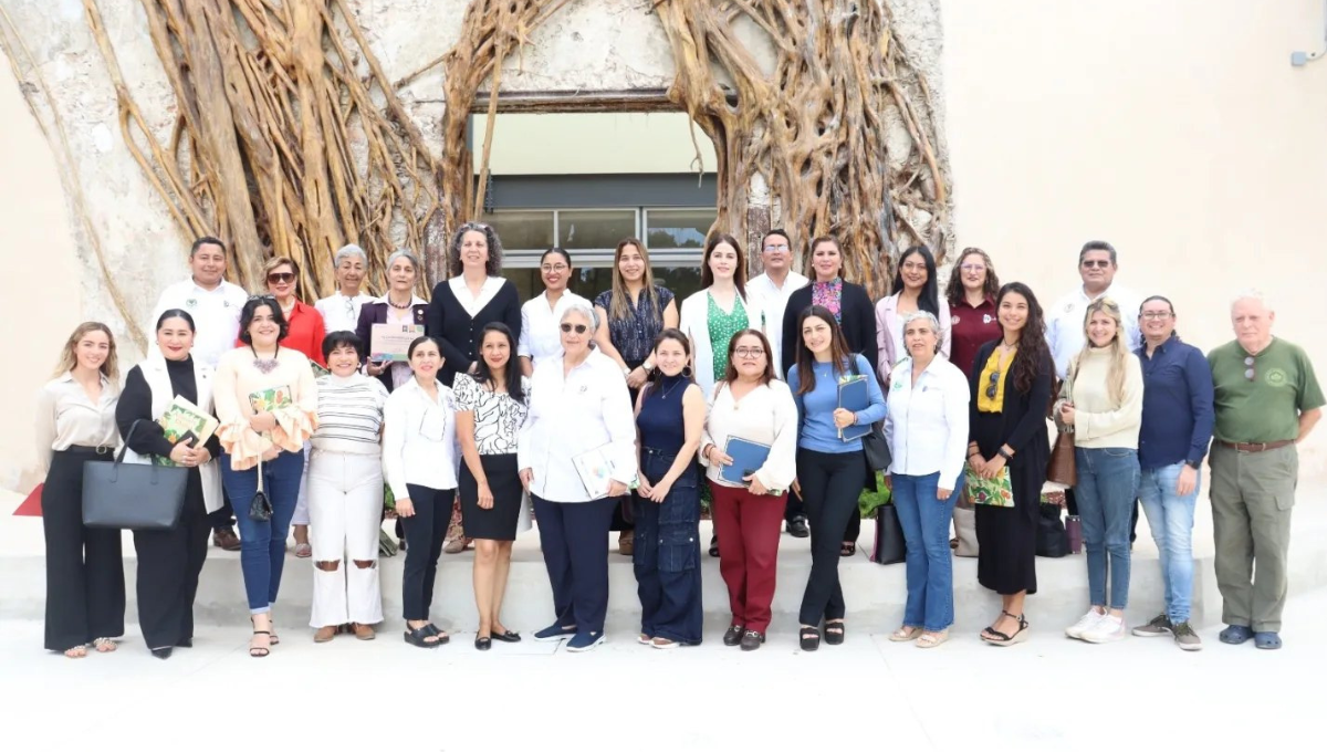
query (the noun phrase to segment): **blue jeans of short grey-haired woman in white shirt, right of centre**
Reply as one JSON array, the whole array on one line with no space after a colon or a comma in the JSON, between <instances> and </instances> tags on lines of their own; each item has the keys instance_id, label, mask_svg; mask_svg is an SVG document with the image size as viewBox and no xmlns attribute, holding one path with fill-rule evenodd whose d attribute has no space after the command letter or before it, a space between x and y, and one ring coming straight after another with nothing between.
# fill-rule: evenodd
<instances>
[{"instance_id":1,"label":"blue jeans of short grey-haired woman in white shirt, right of centre","mask_svg":"<svg viewBox=\"0 0 1327 752\"><path fill-rule=\"evenodd\" d=\"M954 623L954 560L949 550L949 519L962 495L963 476L949 499L936 491L940 473L894 475L893 500L908 542L908 605L904 626L942 631Z\"/></svg>"}]
</instances>

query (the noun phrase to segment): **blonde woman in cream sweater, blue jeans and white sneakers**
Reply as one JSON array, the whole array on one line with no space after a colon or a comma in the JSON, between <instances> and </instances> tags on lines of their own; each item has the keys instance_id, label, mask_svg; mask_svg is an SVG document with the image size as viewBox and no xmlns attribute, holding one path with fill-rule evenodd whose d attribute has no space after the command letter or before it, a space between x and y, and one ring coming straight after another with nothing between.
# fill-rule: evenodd
<instances>
[{"instance_id":1,"label":"blonde woman in cream sweater, blue jeans and white sneakers","mask_svg":"<svg viewBox=\"0 0 1327 752\"><path fill-rule=\"evenodd\" d=\"M1085 642L1116 642L1128 634L1129 528L1143 472L1143 366L1124 342L1123 317L1113 300L1092 301L1083 329L1087 346L1070 362L1068 398L1060 399L1054 412L1062 426L1074 430L1074 496L1083 519L1092 607L1064 634Z\"/></svg>"}]
</instances>

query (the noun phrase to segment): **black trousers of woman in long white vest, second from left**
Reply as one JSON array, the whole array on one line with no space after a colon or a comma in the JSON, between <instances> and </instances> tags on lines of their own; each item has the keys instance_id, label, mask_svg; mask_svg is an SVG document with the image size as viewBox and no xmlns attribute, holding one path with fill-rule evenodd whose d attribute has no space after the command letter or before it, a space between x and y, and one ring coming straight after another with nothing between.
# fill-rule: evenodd
<instances>
[{"instance_id":1,"label":"black trousers of woman in long white vest, second from left","mask_svg":"<svg viewBox=\"0 0 1327 752\"><path fill-rule=\"evenodd\" d=\"M173 531L134 531L138 553L138 626L149 649L194 638L194 597L211 533L203 481L188 472L184 508Z\"/></svg>"}]
</instances>

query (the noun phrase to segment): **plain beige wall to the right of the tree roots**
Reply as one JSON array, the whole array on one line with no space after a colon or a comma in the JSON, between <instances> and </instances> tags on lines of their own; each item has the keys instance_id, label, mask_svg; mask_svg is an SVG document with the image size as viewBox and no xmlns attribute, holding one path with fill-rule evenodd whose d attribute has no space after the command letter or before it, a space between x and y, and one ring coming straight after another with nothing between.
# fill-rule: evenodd
<instances>
[{"instance_id":1,"label":"plain beige wall to the right of the tree roots","mask_svg":"<svg viewBox=\"0 0 1327 752\"><path fill-rule=\"evenodd\" d=\"M945 92L959 247L1050 304L1084 240L1117 280L1174 301L1202 349L1255 285L1274 332L1327 379L1322 294L1327 61L1320 0L945 0ZM1046 301L1044 298L1051 298ZM1304 447L1327 470L1327 430Z\"/></svg>"}]
</instances>

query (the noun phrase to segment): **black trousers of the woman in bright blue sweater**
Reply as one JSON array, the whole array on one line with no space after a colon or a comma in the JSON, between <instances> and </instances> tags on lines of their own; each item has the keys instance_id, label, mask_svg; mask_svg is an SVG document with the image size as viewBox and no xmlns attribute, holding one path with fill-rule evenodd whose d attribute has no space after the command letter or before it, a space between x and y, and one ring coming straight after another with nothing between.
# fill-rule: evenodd
<instances>
[{"instance_id":1,"label":"black trousers of the woman in bright blue sweater","mask_svg":"<svg viewBox=\"0 0 1327 752\"><path fill-rule=\"evenodd\" d=\"M804 625L817 626L821 618L841 619L844 615L839 549L848 520L860 517L857 497L865 479L867 458L861 452L798 450L798 480L811 527L811 577L798 614Z\"/></svg>"}]
</instances>

